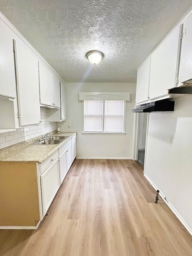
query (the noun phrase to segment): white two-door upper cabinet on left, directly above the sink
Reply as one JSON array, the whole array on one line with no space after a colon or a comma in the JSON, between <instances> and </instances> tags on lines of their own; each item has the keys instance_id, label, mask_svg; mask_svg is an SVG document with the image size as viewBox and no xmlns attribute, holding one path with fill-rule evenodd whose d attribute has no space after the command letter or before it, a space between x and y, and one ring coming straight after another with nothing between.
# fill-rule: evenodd
<instances>
[{"instance_id":1,"label":"white two-door upper cabinet on left, directly above the sink","mask_svg":"<svg viewBox=\"0 0 192 256\"><path fill-rule=\"evenodd\" d=\"M41 62L39 62L39 83L41 104L61 107L60 80Z\"/></svg>"}]
</instances>

